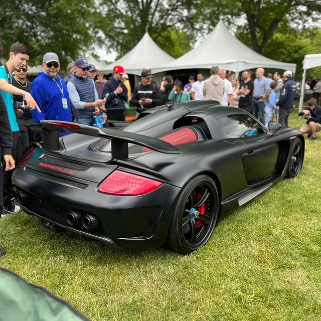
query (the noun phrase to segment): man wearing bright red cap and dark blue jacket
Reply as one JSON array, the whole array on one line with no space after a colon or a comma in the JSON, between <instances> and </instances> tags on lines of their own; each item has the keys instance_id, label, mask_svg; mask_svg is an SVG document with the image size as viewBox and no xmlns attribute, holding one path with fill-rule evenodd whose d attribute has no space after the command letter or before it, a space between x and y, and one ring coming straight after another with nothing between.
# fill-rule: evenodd
<instances>
[{"instance_id":1,"label":"man wearing bright red cap and dark blue jacket","mask_svg":"<svg viewBox=\"0 0 321 321\"><path fill-rule=\"evenodd\" d=\"M121 81L125 74L122 66L113 68L113 75L105 83L102 96L106 99L109 120L125 120L124 103L128 100L127 88Z\"/></svg>"}]
</instances>

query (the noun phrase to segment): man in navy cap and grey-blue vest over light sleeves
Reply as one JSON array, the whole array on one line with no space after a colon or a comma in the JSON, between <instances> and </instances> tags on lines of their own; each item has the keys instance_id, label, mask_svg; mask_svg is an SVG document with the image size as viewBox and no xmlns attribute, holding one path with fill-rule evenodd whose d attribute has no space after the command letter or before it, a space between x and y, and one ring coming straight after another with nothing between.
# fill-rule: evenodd
<instances>
[{"instance_id":1,"label":"man in navy cap and grey-blue vest over light sleeves","mask_svg":"<svg viewBox=\"0 0 321 321\"><path fill-rule=\"evenodd\" d=\"M83 125L92 125L93 116L98 113L98 107L106 100L98 99L94 81L87 77L89 65L85 58L78 58L75 62L75 74L68 83L67 88L70 100L77 111L75 121Z\"/></svg>"}]
</instances>

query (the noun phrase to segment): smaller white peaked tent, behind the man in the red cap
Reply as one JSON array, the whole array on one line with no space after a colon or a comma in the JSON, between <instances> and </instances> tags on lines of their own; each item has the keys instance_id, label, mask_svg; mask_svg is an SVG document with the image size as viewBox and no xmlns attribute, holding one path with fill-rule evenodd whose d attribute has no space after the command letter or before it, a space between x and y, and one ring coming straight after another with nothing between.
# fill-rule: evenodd
<instances>
[{"instance_id":1,"label":"smaller white peaked tent, behind the man in the red cap","mask_svg":"<svg viewBox=\"0 0 321 321\"><path fill-rule=\"evenodd\" d=\"M101 71L112 72L114 66L121 65L127 74L140 76L141 70L144 68L151 69L152 73L155 73L156 67L164 66L173 60L172 56L159 48L148 33L145 33L132 50Z\"/></svg>"}]
</instances>

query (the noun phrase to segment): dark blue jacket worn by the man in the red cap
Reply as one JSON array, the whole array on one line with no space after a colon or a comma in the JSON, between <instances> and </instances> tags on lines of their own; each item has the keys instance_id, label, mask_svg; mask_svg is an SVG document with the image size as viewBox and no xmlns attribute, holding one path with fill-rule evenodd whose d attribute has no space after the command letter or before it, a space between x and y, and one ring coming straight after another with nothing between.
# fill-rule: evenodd
<instances>
[{"instance_id":1,"label":"dark blue jacket worn by the man in the red cap","mask_svg":"<svg viewBox=\"0 0 321 321\"><path fill-rule=\"evenodd\" d=\"M119 86L122 88L122 93L117 94L115 93L116 88ZM111 108L124 108L124 103L128 100L128 90L126 86L123 84L122 81L116 81L113 76L109 77L108 81L105 83L104 89L102 91L102 98L105 98L105 95L108 94L106 97L106 108L111 109ZM118 104L113 105L112 101L114 99L118 99ZM119 112L123 112L123 109L119 109Z\"/></svg>"}]
</instances>

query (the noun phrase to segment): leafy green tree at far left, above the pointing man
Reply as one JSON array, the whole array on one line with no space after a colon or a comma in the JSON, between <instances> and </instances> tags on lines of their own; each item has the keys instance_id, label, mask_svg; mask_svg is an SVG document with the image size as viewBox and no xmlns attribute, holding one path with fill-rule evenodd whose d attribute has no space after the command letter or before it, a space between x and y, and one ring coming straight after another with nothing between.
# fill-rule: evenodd
<instances>
[{"instance_id":1,"label":"leafy green tree at far left, above the pointing man","mask_svg":"<svg viewBox=\"0 0 321 321\"><path fill-rule=\"evenodd\" d=\"M0 7L0 40L7 58L19 41L31 50L31 65L46 52L58 54L63 65L88 52L97 40L95 0L10 0Z\"/></svg>"}]
</instances>

